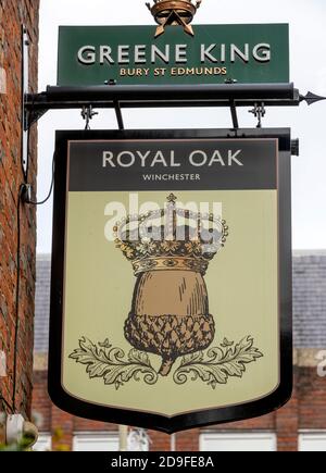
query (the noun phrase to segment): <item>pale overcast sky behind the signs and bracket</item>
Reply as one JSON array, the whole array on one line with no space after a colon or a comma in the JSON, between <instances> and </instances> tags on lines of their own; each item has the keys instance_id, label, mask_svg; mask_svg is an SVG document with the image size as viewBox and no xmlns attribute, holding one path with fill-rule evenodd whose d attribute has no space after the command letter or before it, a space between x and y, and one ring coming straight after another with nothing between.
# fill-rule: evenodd
<instances>
[{"instance_id":1,"label":"pale overcast sky behind the signs and bracket","mask_svg":"<svg viewBox=\"0 0 326 473\"><path fill-rule=\"evenodd\" d=\"M325 0L203 0L195 24L289 23L290 78L300 92L326 96ZM55 85L59 25L153 24L145 0L41 0L39 91ZM292 242L296 249L326 248L326 153L324 150L326 101L312 107L268 109L264 126L290 126L300 138L300 157L292 158ZM124 111L126 128L229 127L227 110ZM240 126L255 126L247 110ZM112 111L100 111L92 128L116 128ZM80 129L80 112L52 111L39 121L38 199L51 181L55 129ZM52 199L38 209L38 251L51 251Z\"/></svg>"}]
</instances>

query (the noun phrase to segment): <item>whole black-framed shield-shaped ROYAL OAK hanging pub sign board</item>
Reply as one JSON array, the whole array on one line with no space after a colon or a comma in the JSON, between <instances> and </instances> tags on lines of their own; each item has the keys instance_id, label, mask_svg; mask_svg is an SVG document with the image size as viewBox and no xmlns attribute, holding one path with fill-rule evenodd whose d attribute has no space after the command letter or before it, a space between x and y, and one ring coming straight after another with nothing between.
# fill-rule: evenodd
<instances>
[{"instance_id":1,"label":"whole black-framed shield-shaped ROYAL OAK hanging pub sign board","mask_svg":"<svg viewBox=\"0 0 326 473\"><path fill-rule=\"evenodd\" d=\"M166 433L291 394L288 129L58 132L49 391Z\"/></svg>"}]
</instances>

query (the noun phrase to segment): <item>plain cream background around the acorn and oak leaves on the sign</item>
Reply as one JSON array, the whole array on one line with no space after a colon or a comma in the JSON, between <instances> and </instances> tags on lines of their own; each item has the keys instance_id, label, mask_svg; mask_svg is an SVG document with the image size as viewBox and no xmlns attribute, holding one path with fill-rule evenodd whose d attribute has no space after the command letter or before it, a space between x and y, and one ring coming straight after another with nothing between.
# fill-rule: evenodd
<instances>
[{"instance_id":1,"label":"plain cream background around the acorn and oak leaves on the sign","mask_svg":"<svg viewBox=\"0 0 326 473\"><path fill-rule=\"evenodd\" d=\"M193 200L193 192L177 192L180 200ZM118 390L103 379L89 379L85 368L68 357L78 338L104 341L128 352L124 323L130 311L135 277L131 265L104 238L104 208L110 199L128 204L125 192L71 192L68 196L66 297L64 318L63 386L72 395L105 406L175 415L191 410L240 403L263 397L278 385L277 309L277 223L276 191L197 192L198 201L223 202L230 236L225 248L210 263L208 285L210 313L214 315L216 336L212 346L227 337L254 338L264 357L248 366L241 379L231 378L215 390L204 383L176 385L172 377L160 377L154 385L131 381ZM164 203L166 192L148 195L141 200ZM140 202L141 202L140 200ZM274 219L271 220L271 215ZM260 232L250 232L255 222ZM80 258L80 254L88 258ZM250 278L249 278L250 274ZM158 292L164 287L158 287ZM90 296L91 295L91 296ZM90 296L90 297L89 297ZM253 302L254 300L254 302ZM153 366L160 357L151 354ZM176 362L178 364L178 362Z\"/></svg>"}]
</instances>

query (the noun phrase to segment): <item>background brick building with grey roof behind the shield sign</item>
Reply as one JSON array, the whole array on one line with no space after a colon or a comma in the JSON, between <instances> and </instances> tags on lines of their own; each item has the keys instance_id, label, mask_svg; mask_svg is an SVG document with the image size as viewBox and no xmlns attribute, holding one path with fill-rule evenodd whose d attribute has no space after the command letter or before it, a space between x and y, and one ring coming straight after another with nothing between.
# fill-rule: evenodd
<instances>
[{"instance_id":1,"label":"background brick building with grey roof behind the shield sign","mask_svg":"<svg viewBox=\"0 0 326 473\"><path fill-rule=\"evenodd\" d=\"M42 256L37 263L33 400L42 438L47 438L47 446L54 450L117 449L116 425L70 415L55 408L48 397L49 288L50 258ZM322 376L322 368L319 374L317 372L323 358L321 350L326 350L326 252L294 253L293 315L293 396L285 407L261 418L175 436L150 431L150 450L326 450L326 377ZM326 352L324 354L326 359Z\"/></svg>"}]
</instances>

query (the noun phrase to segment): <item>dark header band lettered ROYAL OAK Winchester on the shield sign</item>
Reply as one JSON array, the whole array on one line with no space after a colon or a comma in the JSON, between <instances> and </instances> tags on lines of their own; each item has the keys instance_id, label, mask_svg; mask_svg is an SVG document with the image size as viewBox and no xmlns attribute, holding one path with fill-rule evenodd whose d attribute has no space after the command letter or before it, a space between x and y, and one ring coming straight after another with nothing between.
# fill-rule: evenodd
<instances>
[{"instance_id":1,"label":"dark header band lettered ROYAL OAK Winchester on the shield sign","mask_svg":"<svg viewBox=\"0 0 326 473\"><path fill-rule=\"evenodd\" d=\"M276 139L70 141L70 191L275 189Z\"/></svg>"}]
</instances>

